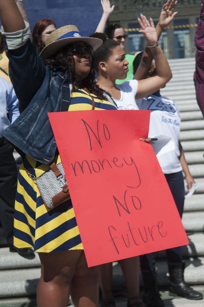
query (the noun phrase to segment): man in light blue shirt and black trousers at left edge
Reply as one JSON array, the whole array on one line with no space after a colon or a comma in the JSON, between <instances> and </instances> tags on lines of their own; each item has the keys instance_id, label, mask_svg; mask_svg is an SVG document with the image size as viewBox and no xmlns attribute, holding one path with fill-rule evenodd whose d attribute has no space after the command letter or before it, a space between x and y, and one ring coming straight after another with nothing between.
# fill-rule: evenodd
<instances>
[{"instance_id":1,"label":"man in light blue shirt and black trousers at left edge","mask_svg":"<svg viewBox=\"0 0 204 307\"><path fill-rule=\"evenodd\" d=\"M12 85L0 77L0 222L10 251L19 255L33 253L31 248L13 247L14 203L17 189L17 166L14 148L2 137L3 131L19 116L19 101Z\"/></svg>"}]
</instances>

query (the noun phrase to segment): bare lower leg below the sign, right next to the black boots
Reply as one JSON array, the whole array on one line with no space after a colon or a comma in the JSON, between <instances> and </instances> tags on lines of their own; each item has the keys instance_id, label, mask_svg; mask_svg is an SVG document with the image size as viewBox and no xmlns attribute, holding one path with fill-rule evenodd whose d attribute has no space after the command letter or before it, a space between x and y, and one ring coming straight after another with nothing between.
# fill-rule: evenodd
<instances>
[{"instance_id":1,"label":"bare lower leg below the sign, right next to the black boots","mask_svg":"<svg viewBox=\"0 0 204 307\"><path fill-rule=\"evenodd\" d=\"M125 278L128 298L139 297L139 256L120 260L120 266ZM140 299L131 300L131 304Z\"/></svg>"}]
</instances>

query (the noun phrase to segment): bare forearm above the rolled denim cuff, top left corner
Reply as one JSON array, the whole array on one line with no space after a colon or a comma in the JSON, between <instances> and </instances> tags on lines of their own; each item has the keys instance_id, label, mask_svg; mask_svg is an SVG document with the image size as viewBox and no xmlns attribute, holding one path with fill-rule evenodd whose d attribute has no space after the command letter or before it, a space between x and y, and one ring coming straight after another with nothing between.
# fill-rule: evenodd
<instances>
[{"instance_id":1,"label":"bare forearm above the rolled denim cuff, top left corner","mask_svg":"<svg viewBox=\"0 0 204 307\"><path fill-rule=\"evenodd\" d=\"M25 29L25 22L15 0L0 1L0 19L5 32L10 33Z\"/></svg>"}]
</instances>

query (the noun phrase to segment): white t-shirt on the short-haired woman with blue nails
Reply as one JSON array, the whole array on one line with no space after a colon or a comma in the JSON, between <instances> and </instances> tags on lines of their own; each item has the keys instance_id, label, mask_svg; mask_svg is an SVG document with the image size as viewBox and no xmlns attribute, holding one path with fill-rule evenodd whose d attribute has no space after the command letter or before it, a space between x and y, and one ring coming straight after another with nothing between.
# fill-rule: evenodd
<instances>
[{"instance_id":1,"label":"white t-shirt on the short-haired woman with blue nails","mask_svg":"<svg viewBox=\"0 0 204 307\"><path fill-rule=\"evenodd\" d=\"M120 99L112 99L116 102L119 110L139 110L135 103L135 95L137 92L138 81L125 81L117 87L120 90Z\"/></svg>"}]
</instances>

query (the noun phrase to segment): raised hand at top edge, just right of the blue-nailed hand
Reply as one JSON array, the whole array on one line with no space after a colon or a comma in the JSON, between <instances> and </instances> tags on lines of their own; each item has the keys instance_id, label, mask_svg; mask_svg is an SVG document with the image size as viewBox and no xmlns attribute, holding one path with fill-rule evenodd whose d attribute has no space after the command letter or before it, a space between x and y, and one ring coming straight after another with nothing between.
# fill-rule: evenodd
<instances>
[{"instance_id":1,"label":"raised hand at top edge, just right of the blue-nailed hand","mask_svg":"<svg viewBox=\"0 0 204 307\"><path fill-rule=\"evenodd\" d=\"M178 13L178 12L173 13L177 3L178 1L168 0L167 3L163 5L158 22L160 27L165 28L174 19L174 16Z\"/></svg>"}]
</instances>

